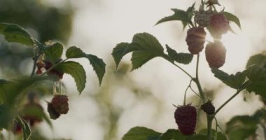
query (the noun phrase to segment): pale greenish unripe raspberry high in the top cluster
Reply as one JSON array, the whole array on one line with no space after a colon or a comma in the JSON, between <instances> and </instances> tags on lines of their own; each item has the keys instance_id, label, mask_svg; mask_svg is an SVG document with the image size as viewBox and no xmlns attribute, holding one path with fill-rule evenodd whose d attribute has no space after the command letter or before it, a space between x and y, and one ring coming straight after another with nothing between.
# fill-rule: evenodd
<instances>
[{"instance_id":1,"label":"pale greenish unripe raspberry high in the top cluster","mask_svg":"<svg viewBox=\"0 0 266 140\"><path fill-rule=\"evenodd\" d=\"M207 27L209 25L209 20L210 20L211 15L212 15L212 10L197 11L195 13L194 20L201 27Z\"/></svg>"}]
</instances>

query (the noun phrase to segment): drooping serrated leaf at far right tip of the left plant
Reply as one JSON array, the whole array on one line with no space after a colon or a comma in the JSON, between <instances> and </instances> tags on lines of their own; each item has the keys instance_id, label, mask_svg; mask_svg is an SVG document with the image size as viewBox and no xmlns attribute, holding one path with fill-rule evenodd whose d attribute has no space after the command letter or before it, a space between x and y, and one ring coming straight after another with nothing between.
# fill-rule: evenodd
<instances>
[{"instance_id":1,"label":"drooping serrated leaf at far right tip of the left plant","mask_svg":"<svg viewBox=\"0 0 266 140\"><path fill-rule=\"evenodd\" d=\"M106 66L106 64L104 63L104 60L98 58L96 55L87 54L86 57L87 59L89 59L90 64L93 67L93 70L98 76L99 84L101 85L102 78L104 78L105 66Z\"/></svg>"}]
</instances>

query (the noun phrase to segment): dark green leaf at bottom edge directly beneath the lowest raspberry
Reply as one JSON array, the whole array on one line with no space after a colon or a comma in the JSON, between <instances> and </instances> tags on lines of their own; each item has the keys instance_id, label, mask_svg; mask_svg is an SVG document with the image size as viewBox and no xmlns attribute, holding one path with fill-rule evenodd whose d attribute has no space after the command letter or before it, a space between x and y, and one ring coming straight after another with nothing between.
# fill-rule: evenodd
<instances>
[{"instance_id":1,"label":"dark green leaf at bottom edge directly beneath the lowest raspberry","mask_svg":"<svg viewBox=\"0 0 266 140\"><path fill-rule=\"evenodd\" d=\"M179 132L179 130L167 130L162 136L160 137L160 140L170 140L170 139L178 139L178 140L186 140L188 139L188 136L185 136Z\"/></svg>"}]
</instances>

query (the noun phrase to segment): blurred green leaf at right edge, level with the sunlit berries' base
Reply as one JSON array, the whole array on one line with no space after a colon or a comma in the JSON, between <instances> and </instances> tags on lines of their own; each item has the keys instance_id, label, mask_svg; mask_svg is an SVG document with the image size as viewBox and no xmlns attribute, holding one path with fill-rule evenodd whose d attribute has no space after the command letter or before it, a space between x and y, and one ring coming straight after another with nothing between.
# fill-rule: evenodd
<instances>
[{"instance_id":1,"label":"blurred green leaf at right edge, level with the sunlit berries' base","mask_svg":"<svg viewBox=\"0 0 266 140\"><path fill-rule=\"evenodd\" d=\"M246 63L246 69L248 69L248 67L253 64L266 67L266 56L262 54L258 54L258 55L253 55L249 57L248 62Z\"/></svg>"}]
</instances>

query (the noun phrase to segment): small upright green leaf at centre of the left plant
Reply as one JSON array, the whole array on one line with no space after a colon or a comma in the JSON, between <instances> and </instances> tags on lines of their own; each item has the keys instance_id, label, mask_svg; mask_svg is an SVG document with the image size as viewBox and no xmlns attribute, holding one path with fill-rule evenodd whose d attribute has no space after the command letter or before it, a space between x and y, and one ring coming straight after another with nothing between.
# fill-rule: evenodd
<instances>
[{"instance_id":1,"label":"small upright green leaf at centre of the left plant","mask_svg":"<svg viewBox=\"0 0 266 140\"><path fill-rule=\"evenodd\" d=\"M55 64L62 57L63 45L61 43L54 43L45 48L45 60Z\"/></svg>"}]
</instances>

